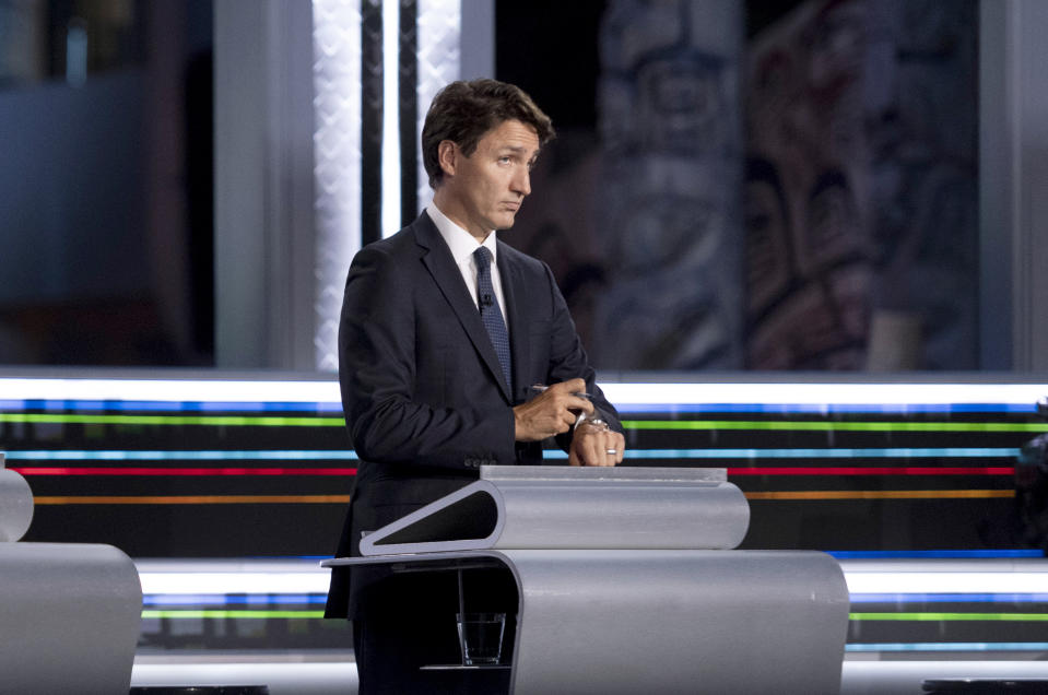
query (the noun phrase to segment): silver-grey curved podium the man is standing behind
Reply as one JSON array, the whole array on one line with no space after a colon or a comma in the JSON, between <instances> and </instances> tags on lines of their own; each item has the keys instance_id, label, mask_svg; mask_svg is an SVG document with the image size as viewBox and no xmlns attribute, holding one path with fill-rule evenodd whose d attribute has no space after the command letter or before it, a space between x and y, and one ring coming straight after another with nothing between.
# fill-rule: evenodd
<instances>
[{"instance_id":1,"label":"silver-grey curved podium the man is standing behind","mask_svg":"<svg viewBox=\"0 0 1048 695\"><path fill-rule=\"evenodd\" d=\"M490 467L325 566L503 566L510 691L836 693L848 591L824 553L733 551L722 469Z\"/></svg>"}]
</instances>

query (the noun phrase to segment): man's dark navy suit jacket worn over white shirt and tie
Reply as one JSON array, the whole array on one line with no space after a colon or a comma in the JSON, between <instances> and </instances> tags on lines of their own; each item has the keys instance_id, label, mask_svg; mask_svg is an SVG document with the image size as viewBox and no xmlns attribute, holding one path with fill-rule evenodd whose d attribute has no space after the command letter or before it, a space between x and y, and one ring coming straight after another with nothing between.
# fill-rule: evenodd
<instances>
[{"instance_id":1,"label":"man's dark navy suit jacket worn over white shirt and tie","mask_svg":"<svg viewBox=\"0 0 1048 695\"><path fill-rule=\"evenodd\" d=\"M478 479L482 464L537 464L541 443L514 440L513 407L533 384L586 380L621 431L549 267L502 242L497 252L514 384L451 251L426 213L353 259L339 328L339 381L360 457L337 554L360 554L374 531ZM566 448L570 434L558 438ZM332 572L326 615L354 616L377 572Z\"/></svg>"}]
</instances>

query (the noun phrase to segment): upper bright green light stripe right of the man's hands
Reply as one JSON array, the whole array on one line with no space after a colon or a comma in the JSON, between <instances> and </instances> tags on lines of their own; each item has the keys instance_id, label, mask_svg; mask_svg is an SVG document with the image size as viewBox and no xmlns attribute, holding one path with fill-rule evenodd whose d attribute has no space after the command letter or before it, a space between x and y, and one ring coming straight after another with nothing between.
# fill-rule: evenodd
<instances>
[{"instance_id":1,"label":"upper bright green light stripe right of the man's hands","mask_svg":"<svg viewBox=\"0 0 1048 695\"><path fill-rule=\"evenodd\" d=\"M765 422L759 420L624 420L626 429L776 429L784 432L1048 432L1028 422Z\"/></svg>"}]
</instances>

